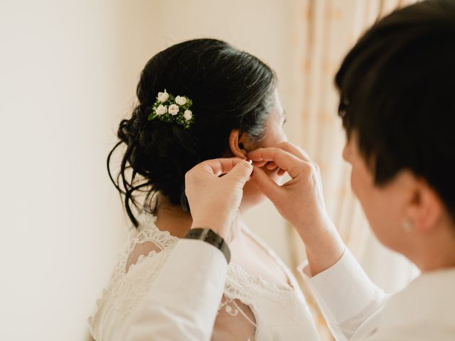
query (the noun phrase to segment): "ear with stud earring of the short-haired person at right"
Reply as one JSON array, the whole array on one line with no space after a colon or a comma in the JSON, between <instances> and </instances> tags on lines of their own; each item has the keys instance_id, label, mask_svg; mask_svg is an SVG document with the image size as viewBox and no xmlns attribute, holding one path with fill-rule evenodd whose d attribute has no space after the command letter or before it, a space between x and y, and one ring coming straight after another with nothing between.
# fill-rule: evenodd
<instances>
[{"instance_id":1,"label":"ear with stud earring of the short-haired person at right","mask_svg":"<svg viewBox=\"0 0 455 341\"><path fill-rule=\"evenodd\" d=\"M439 226L444 215L444 204L436 191L421 179L414 180L410 216L413 229L419 233L432 233Z\"/></svg>"}]
</instances>

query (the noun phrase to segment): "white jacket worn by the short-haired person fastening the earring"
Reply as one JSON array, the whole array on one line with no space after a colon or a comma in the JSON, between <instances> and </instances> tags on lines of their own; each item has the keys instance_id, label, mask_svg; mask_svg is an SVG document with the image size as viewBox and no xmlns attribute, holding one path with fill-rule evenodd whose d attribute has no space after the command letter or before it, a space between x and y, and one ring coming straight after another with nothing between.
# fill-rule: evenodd
<instances>
[{"instance_id":1,"label":"white jacket worn by the short-haired person fastening the earring","mask_svg":"<svg viewBox=\"0 0 455 341\"><path fill-rule=\"evenodd\" d=\"M210 340L227 271L220 250L179 240L119 340ZM455 340L454 268L387 296L346 249L331 268L304 276L336 340Z\"/></svg>"}]
</instances>

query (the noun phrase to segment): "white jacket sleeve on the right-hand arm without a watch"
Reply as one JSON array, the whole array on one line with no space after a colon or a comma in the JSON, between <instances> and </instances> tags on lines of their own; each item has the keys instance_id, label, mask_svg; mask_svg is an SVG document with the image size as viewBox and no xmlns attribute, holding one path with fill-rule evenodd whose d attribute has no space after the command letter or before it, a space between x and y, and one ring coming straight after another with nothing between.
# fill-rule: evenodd
<instances>
[{"instance_id":1,"label":"white jacket sleeve on the right-hand arm without a watch","mask_svg":"<svg viewBox=\"0 0 455 341\"><path fill-rule=\"evenodd\" d=\"M336 340L349 340L385 302L385 293L370 281L347 248L336 264L314 277L307 264L301 268Z\"/></svg>"}]
</instances>

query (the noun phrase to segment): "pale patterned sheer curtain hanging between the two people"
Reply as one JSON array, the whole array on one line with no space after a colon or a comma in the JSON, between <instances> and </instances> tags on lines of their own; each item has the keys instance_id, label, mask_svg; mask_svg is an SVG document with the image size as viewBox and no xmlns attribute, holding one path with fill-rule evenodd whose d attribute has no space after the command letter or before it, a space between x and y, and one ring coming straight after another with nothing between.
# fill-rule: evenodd
<instances>
[{"instance_id":1,"label":"pale patterned sheer curtain hanging between the two people","mask_svg":"<svg viewBox=\"0 0 455 341\"><path fill-rule=\"evenodd\" d=\"M365 28L398 6L414 2L416 0L301 0L295 3L293 48L297 57L294 65L301 72L294 72L296 93L293 97L299 99L299 105L292 109L299 117L293 117L298 124L291 128L294 129L291 139L303 146L321 167L327 207L333 221L370 278L387 292L400 290L417 270L407 259L378 243L350 190L350 167L341 157L345 134L336 114L338 94L333 77ZM290 228L289 234L293 244L290 258L297 263L304 259L304 252ZM309 299L311 301L311 297ZM323 328L321 332L326 334Z\"/></svg>"}]
</instances>

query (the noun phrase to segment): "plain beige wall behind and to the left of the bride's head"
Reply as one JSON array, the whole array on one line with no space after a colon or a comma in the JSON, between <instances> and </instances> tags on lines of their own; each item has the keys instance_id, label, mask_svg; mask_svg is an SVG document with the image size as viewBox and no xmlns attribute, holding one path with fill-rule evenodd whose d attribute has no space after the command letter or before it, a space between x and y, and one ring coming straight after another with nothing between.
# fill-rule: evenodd
<instances>
[{"instance_id":1,"label":"plain beige wall behind and to the left of the bride's head","mask_svg":"<svg viewBox=\"0 0 455 341\"><path fill-rule=\"evenodd\" d=\"M294 12L283 4L0 2L1 340L86 337L126 226L105 158L151 55L202 36L255 53L277 70L297 134ZM284 224L269 208L247 220L287 258Z\"/></svg>"}]
</instances>

